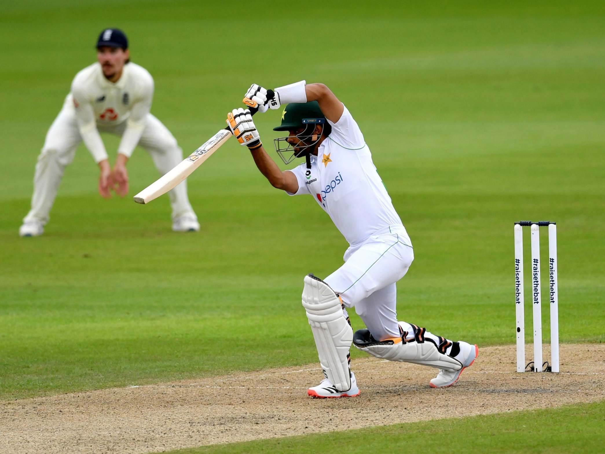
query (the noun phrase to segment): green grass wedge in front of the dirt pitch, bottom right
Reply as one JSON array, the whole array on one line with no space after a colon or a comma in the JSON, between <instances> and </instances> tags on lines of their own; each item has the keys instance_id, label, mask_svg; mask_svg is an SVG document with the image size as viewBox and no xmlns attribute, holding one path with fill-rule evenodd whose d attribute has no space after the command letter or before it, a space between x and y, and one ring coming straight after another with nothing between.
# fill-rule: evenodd
<instances>
[{"instance_id":1,"label":"green grass wedge in front of the dirt pitch, bottom right","mask_svg":"<svg viewBox=\"0 0 605 454\"><path fill-rule=\"evenodd\" d=\"M171 451L172 454L600 452L605 403L394 424Z\"/></svg>"}]
</instances>

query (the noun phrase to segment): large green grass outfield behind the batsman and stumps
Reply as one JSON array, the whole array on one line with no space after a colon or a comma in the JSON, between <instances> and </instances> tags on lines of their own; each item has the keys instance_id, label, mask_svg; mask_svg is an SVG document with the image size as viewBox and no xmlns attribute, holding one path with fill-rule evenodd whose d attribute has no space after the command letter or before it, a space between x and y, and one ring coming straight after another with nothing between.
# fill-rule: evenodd
<instances>
[{"instance_id":1,"label":"large green grass outfield behind the batsman and stumps","mask_svg":"<svg viewBox=\"0 0 605 454\"><path fill-rule=\"evenodd\" d=\"M107 26L128 33L132 61L155 78L152 112L186 153L252 82L329 85L414 244L402 320L512 343L512 222L550 219L561 341L605 340L602 2L275 2L253 17L198 3L4 7L0 399L316 361L302 277L338 268L347 245L310 197L271 188L235 142L189 179L200 234L170 231L166 197L100 199L80 146L45 235L17 237L44 135ZM279 114L257 118L270 150ZM113 156L117 139L105 143ZM131 195L157 177L143 150L128 166ZM548 340L546 304L543 317Z\"/></svg>"}]
</instances>

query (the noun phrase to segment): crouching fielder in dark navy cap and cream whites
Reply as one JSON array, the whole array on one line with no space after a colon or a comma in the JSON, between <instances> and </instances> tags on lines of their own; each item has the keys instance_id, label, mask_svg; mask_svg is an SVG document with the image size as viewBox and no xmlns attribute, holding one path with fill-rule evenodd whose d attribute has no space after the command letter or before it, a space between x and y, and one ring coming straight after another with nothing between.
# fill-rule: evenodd
<instances>
[{"instance_id":1,"label":"crouching fielder in dark navy cap and cream whites","mask_svg":"<svg viewBox=\"0 0 605 454\"><path fill-rule=\"evenodd\" d=\"M48 130L38 157L31 210L19 228L22 237L42 235L65 167L85 143L100 168L99 194L128 193L126 162L138 145L151 154L165 174L183 159L183 151L160 120L149 110L154 82L145 68L130 62L128 39L121 30L107 28L97 41L98 62L76 74L62 110ZM112 169L100 132L121 136ZM187 197L186 182L169 192L172 230L198 231L200 224Z\"/></svg>"}]
</instances>

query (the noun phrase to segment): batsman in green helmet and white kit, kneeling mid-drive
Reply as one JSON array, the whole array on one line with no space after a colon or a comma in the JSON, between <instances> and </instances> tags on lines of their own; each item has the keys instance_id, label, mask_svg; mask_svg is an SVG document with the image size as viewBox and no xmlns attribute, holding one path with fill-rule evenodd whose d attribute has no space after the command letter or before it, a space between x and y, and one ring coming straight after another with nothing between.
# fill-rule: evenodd
<instances>
[{"instance_id":1,"label":"batsman in green helmet and white kit, kneeling mid-drive","mask_svg":"<svg viewBox=\"0 0 605 454\"><path fill-rule=\"evenodd\" d=\"M304 157L304 163L281 171L264 150L247 110L229 113L227 124L275 188L290 196L312 196L350 243L341 268L324 280L312 274L304 278L302 305L325 377L307 393L320 398L359 395L350 370L352 342L378 358L436 367L439 373L430 386L451 386L479 349L397 320L395 283L408 271L414 252L357 123L322 84L301 81L275 88L270 100L266 93L253 84L246 97L261 112L287 104L281 125L273 129L289 135L275 139L275 149L285 163L296 157ZM347 315L353 306L368 327L355 335Z\"/></svg>"}]
</instances>

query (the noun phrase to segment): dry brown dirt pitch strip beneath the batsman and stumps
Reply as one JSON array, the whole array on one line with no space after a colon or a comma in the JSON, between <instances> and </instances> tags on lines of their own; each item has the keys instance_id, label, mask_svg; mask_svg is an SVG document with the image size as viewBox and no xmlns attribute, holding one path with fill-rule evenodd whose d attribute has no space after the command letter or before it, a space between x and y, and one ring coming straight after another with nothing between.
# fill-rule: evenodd
<instances>
[{"instance_id":1,"label":"dry brown dirt pitch strip beneath the batsman and stumps","mask_svg":"<svg viewBox=\"0 0 605 454\"><path fill-rule=\"evenodd\" d=\"M526 346L527 354L532 346ZM312 399L316 364L0 403L2 453L148 453L605 400L605 345L561 345L561 373L516 373L515 347L486 347L458 383L435 370L353 361L361 395ZM550 358L546 354L545 359Z\"/></svg>"}]
</instances>

